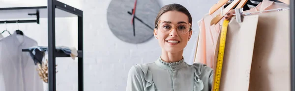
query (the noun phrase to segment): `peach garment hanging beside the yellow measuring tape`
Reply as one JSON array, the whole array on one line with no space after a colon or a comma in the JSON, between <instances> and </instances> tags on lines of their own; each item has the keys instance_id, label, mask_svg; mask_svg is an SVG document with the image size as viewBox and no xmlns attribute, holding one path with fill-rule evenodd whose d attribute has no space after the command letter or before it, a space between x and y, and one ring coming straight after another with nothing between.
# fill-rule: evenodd
<instances>
[{"instance_id":1,"label":"peach garment hanging beside the yellow measuring tape","mask_svg":"<svg viewBox=\"0 0 295 91\"><path fill-rule=\"evenodd\" d=\"M219 35L220 25L210 25L211 20L221 12L221 8L216 10L213 14L206 14L198 25L200 28L199 41L195 55L194 63L203 63L212 68L212 61L215 55L217 39ZM222 22L222 21L220 21Z\"/></svg>"}]
</instances>

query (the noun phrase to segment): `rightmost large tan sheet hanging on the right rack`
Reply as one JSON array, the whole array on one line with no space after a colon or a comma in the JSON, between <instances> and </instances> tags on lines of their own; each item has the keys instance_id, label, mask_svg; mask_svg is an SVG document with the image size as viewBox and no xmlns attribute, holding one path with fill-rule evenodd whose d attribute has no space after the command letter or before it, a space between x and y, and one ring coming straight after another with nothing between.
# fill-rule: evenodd
<instances>
[{"instance_id":1,"label":"rightmost large tan sheet hanging on the right rack","mask_svg":"<svg viewBox=\"0 0 295 91\"><path fill-rule=\"evenodd\" d=\"M259 14L249 91L290 91L290 11Z\"/></svg>"}]
</instances>

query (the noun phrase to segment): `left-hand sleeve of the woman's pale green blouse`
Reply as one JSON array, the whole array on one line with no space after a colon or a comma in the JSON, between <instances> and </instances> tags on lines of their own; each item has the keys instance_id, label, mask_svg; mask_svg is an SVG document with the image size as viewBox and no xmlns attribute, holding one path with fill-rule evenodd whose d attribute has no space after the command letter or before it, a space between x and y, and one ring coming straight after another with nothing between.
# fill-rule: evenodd
<instances>
[{"instance_id":1,"label":"left-hand sleeve of the woman's pale green blouse","mask_svg":"<svg viewBox=\"0 0 295 91\"><path fill-rule=\"evenodd\" d=\"M132 66L128 73L126 91L144 91L142 71Z\"/></svg>"}]
</instances>

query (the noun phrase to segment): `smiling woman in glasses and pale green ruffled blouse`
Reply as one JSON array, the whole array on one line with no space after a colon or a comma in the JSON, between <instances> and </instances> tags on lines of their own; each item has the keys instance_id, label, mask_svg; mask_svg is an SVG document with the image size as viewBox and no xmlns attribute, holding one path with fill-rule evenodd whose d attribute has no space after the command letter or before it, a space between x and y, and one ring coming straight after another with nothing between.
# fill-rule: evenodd
<instances>
[{"instance_id":1,"label":"smiling woman in glasses and pale green ruffled blouse","mask_svg":"<svg viewBox=\"0 0 295 91\"><path fill-rule=\"evenodd\" d=\"M182 56L192 35L192 17L180 4L161 8L153 31L162 47L153 63L129 70L126 91L211 91L213 70L201 63L188 65Z\"/></svg>"}]
</instances>

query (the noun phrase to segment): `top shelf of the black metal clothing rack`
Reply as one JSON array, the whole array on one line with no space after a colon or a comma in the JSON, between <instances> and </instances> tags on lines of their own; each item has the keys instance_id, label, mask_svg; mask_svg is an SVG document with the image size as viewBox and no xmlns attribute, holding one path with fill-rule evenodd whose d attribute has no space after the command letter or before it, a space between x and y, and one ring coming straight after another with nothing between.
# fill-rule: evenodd
<instances>
[{"instance_id":1,"label":"top shelf of the black metal clothing rack","mask_svg":"<svg viewBox=\"0 0 295 91\"><path fill-rule=\"evenodd\" d=\"M77 8L71 7L59 1L56 1L56 3L55 18L83 16L83 11ZM48 18L47 6L30 6L0 8L0 20L35 18L35 16L29 16L28 13L34 14L37 11L39 12L40 18Z\"/></svg>"}]
</instances>

